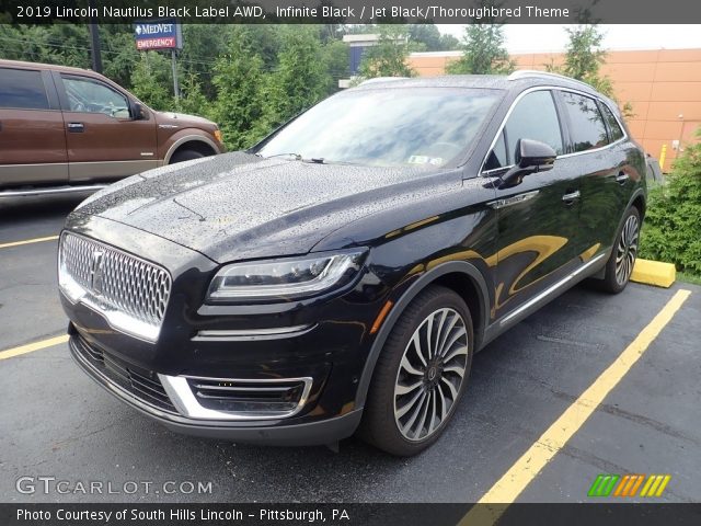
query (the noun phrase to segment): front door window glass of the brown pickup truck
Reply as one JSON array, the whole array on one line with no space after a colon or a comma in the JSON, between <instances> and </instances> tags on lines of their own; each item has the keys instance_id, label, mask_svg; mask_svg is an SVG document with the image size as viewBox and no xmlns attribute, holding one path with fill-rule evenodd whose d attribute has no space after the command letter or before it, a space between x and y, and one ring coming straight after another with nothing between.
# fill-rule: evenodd
<instances>
[{"instance_id":1,"label":"front door window glass of the brown pickup truck","mask_svg":"<svg viewBox=\"0 0 701 526\"><path fill-rule=\"evenodd\" d=\"M122 93L92 79L61 76L61 80L71 112L129 118L129 102Z\"/></svg>"}]
</instances>

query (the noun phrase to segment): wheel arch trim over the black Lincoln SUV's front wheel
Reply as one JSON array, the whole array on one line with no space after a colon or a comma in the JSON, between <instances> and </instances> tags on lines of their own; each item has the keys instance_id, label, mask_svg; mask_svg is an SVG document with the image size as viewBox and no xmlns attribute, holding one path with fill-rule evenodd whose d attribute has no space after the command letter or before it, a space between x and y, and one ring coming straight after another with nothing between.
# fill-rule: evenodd
<instances>
[{"instance_id":1,"label":"wheel arch trim over the black Lincoln SUV's front wheel","mask_svg":"<svg viewBox=\"0 0 701 526\"><path fill-rule=\"evenodd\" d=\"M392 310L382 323L376 336L368 357L363 368L363 375L358 382L356 393L356 407L363 408L367 399L368 389L375 373L377 359L382 352L394 324L402 316L409 304L426 287L430 285L441 285L455 290L468 305L474 331L474 351L480 348L484 330L489 318L490 295L486 282L482 273L471 263L466 261L451 261L443 263L430 271L422 274L394 302Z\"/></svg>"}]
</instances>

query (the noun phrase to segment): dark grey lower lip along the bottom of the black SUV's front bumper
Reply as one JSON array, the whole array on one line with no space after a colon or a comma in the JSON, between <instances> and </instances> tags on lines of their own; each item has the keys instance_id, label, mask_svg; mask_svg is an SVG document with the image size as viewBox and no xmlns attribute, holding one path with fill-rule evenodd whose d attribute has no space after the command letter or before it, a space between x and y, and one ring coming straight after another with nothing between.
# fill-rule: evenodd
<instances>
[{"instance_id":1,"label":"dark grey lower lip along the bottom of the black SUV's front bumper","mask_svg":"<svg viewBox=\"0 0 701 526\"><path fill-rule=\"evenodd\" d=\"M275 446L323 445L350 436L360 423L360 409L307 423L294 423L281 419L237 422L188 419L177 412L165 392L145 397L142 389L135 390L129 384L118 381L107 369L100 367L99 363L91 358L87 343L72 324L69 327L69 334L71 356L88 376L119 400L179 433ZM143 381L146 379L141 380Z\"/></svg>"}]
</instances>

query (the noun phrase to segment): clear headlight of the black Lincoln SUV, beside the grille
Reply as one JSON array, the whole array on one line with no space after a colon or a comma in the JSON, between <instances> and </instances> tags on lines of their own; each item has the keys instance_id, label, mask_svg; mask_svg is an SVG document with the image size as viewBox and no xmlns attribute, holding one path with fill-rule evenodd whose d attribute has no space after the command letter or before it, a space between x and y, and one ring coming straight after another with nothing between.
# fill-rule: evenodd
<instances>
[{"instance_id":1,"label":"clear headlight of the black Lincoln SUV, beside the grille","mask_svg":"<svg viewBox=\"0 0 701 526\"><path fill-rule=\"evenodd\" d=\"M209 286L212 300L271 300L313 296L348 283L365 250L303 258L234 263L217 273Z\"/></svg>"}]
</instances>

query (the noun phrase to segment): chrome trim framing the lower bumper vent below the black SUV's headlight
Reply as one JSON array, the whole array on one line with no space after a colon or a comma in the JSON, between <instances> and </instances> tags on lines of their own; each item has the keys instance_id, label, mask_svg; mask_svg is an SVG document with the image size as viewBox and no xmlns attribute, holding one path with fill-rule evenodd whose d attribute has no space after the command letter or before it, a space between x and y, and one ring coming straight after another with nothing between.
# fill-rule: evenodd
<instances>
[{"instance_id":1,"label":"chrome trim framing the lower bumper vent below the black SUV's headlight","mask_svg":"<svg viewBox=\"0 0 701 526\"><path fill-rule=\"evenodd\" d=\"M171 399L175 409L183 415L193 420L216 420L216 421L254 421L254 420L274 420L274 419L289 419L299 413L309 399L311 392L312 378L309 376L299 378L264 378L264 379L251 379L251 378L209 378L204 376L168 376L159 373L158 375L168 397ZM230 381L239 384L289 384L292 381L300 381L304 385L302 395L297 402L297 407L291 411L285 412L268 412L268 413L244 413L233 411L217 411L214 409L207 409L203 407L195 397L187 380L210 380L210 381Z\"/></svg>"}]
</instances>

